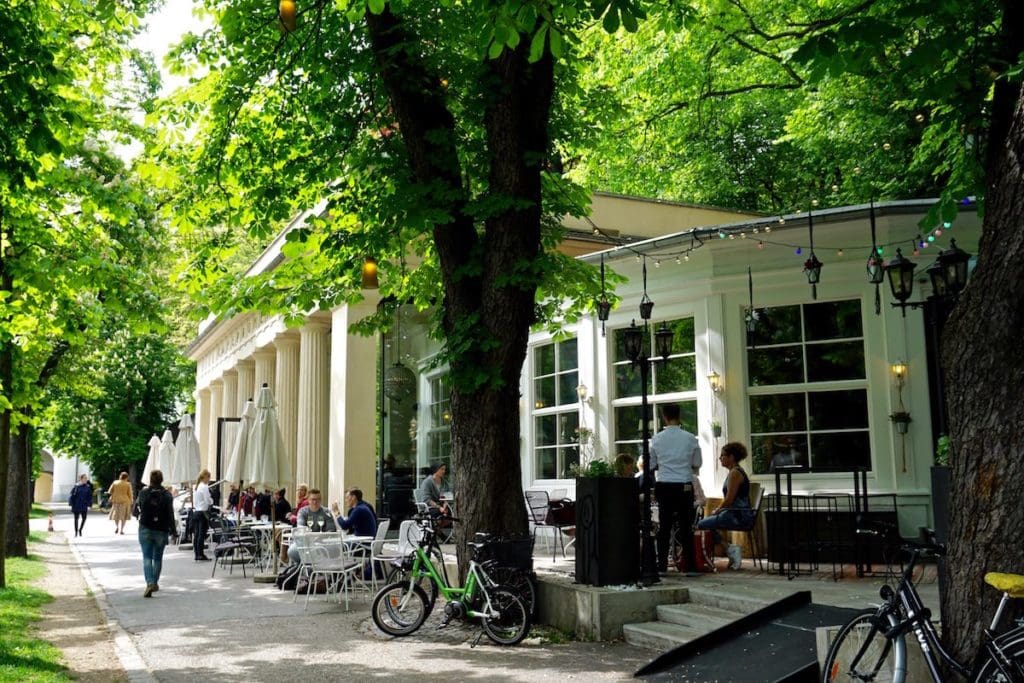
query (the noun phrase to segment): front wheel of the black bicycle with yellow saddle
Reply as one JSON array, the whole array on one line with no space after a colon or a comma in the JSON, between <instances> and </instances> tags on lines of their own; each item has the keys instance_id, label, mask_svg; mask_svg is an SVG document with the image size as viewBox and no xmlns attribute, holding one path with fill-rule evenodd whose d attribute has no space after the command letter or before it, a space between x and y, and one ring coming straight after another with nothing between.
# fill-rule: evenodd
<instances>
[{"instance_id":1,"label":"front wheel of the black bicycle with yellow saddle","mask_svg":"<svg viewBox=\"0 0 1024 683\"><path fill-rule=\"evenodd\" d=\"M903 683L906 669L897 667L893 641L874 628L877 610L859 612L836 634L828 648L821 680ZM902 637L896 647L905 647ZM905 657L902 658L905 661Z\"/></svg>"}]
</instances>

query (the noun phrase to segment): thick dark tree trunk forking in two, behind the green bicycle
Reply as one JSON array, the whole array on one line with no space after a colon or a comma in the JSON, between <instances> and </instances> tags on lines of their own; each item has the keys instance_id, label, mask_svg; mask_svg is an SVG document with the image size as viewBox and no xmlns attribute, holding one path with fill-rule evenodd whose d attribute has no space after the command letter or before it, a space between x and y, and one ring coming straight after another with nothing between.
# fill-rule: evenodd
<instances>
[{"instance_id":1,"label":"thick dark tree trunk forking in two, behind the green bicycle","mask_svg":"<svg viewBox=\"0 0 1024 683\"><path fill-rule=\"evenodd\" d=\"M526 532L519 445L519 375L534 322L541 255L541 165L554 91L550 55L530 65L529 40L489 59L485 114L488 196L513 207L488 217L482 239L466 214L455 120L442 79L389 10L367 14L371 44L418 182L434 189L452 219L434 226L452 356L452 458L459 555L478 530ZM444 188L438 191L436 188Z\"/></svg>"}]
</instances>

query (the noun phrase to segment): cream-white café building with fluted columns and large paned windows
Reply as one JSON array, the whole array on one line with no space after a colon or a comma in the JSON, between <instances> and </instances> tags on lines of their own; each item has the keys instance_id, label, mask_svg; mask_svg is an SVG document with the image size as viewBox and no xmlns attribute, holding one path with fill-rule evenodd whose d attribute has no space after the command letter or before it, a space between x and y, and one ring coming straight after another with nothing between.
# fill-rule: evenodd
<instances>
[{"instance_id":1,"label":"cream-white caf\u00e9 building with fluted columns and large paned windows","mask_svg":"<svg viewBox=\"0 0 1024 683\"><path fill-rule=\"evenodd\" d=\"M950 249L950 239L966 252L977 248L973 208L922 232L919 221L933 204L873 208L883 258L899 248L918 264L910 301L932 294L926 266ZM894 307L888 282L868 282L870 212L867 205L813 211L813 251L823 263L815 298L805 271L807 213L762 216L595 195L589 221L566 221L562 249L595 266L603 257L628 282L615 289L618 304L603 325L595 315L569 328L566 339L531 335L520 385L523 487L572 497L571 465L640 452L640 380L625 357L623 331L641 323L646 268L655 304L649 334L663 323L674 332L670 357L652 366L649 400L681 405L683 426L701 444L709 495L724 480L718 449L739 440L751 451L745 469L769 492L775 464L810 469L793 477L798 493L848 493L850 472L859 469L868 492L891 502L904 533L930 523L929 472L943 419L933 346L942 313ZM280 262L286 232L250 272ZM278 402L296 482L324 489L328 501L358 486L380 513L394 513L423 468L450 459L449 390L444 368L431 364L428 315L406 305L392 333L349 334L379 303L376 291L365 294L357 305L310 311L298 328L258 313L200 328L188 354L198 364L202 459L215 475L231 446L229 425L263 383ZM909 423L894 422L894 414L908 414Z\"/></svg>"}]
</instances>

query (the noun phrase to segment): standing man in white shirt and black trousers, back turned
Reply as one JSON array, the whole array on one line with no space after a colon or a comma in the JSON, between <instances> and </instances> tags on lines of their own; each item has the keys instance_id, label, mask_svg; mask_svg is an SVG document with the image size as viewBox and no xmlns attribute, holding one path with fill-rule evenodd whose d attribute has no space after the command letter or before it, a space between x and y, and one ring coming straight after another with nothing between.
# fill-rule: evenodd
<instances>
[{"instance_id":1,"label":"standing man in white shirt and black trousers, back turned","mask_svg":"<svg viewBox=\"0 0 1024 683\"><path fill-rule=\"evenodd\" d=\"M678 523L676 542L682 545L686 575L694 571L693 552L693 475L700 471L700 444L696 437L679 426L678 403L662 405L666 427L650 441L650 469L657 472L654 496L657 498L657 571L669 570L669 545L672 528ZM649 476L649 474L648 474Z\"/></svg>"}]
</instances>

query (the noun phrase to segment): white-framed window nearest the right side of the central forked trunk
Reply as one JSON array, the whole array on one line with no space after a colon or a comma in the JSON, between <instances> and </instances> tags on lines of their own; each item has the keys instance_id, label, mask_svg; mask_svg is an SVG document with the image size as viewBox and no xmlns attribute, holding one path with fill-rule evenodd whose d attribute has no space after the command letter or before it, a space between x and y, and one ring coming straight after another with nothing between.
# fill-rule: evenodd
<instances>
[{"instance_id":1,"label":"white-framed window nearest the right side of the central forked trunk","mask_svg":"<svg viewBox=\"0 0 1024 683\"><path fill-rule=\"evenodd\" d=\"M538 479L566 479L580 464L577 340L534 347L534 461Z\"/></svg>"}]
</instances>

